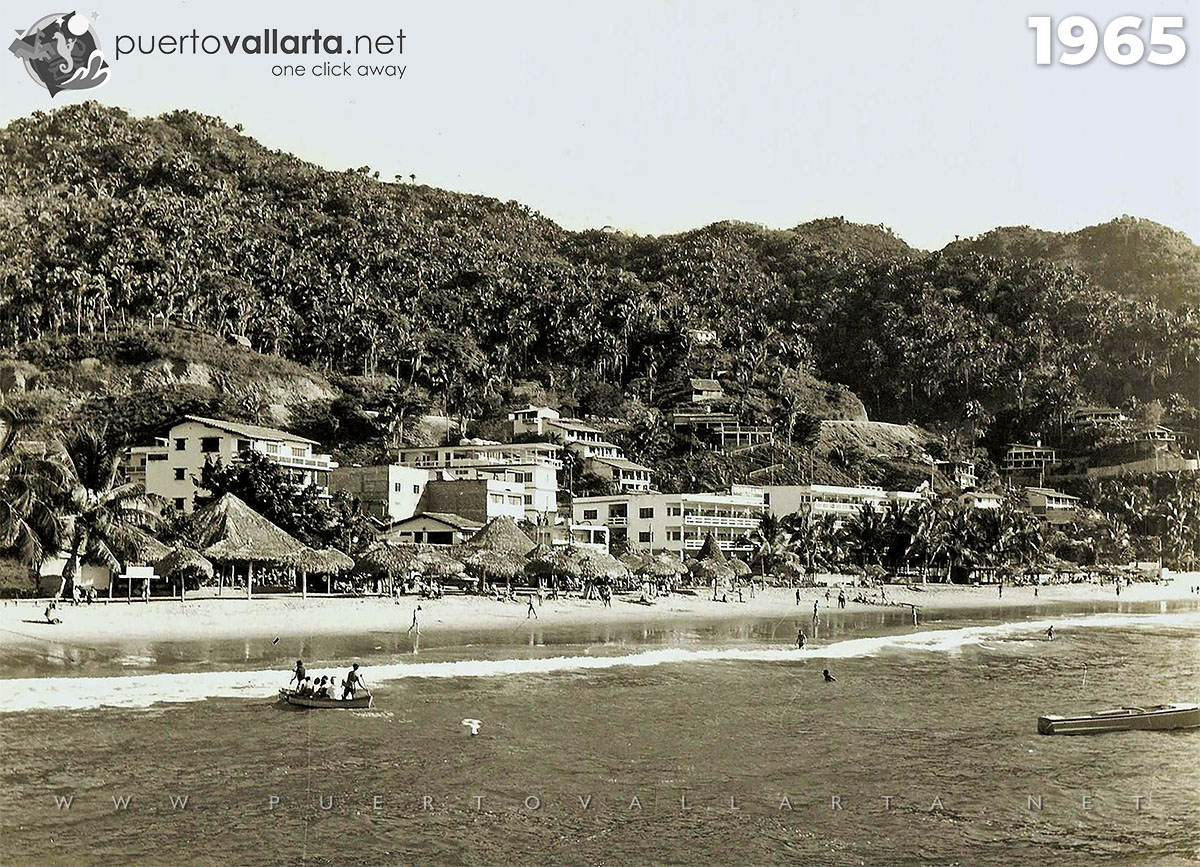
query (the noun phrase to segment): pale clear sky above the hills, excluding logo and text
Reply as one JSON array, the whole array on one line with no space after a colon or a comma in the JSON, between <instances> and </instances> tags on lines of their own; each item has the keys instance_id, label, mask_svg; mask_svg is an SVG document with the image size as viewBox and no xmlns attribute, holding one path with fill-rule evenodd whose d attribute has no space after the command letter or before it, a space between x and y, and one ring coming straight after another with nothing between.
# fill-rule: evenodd
<instances>
[{"instance_id":1,"label":"pale clear sky above the hills, excluding logo and text","mask_svg":"<svg viewBox=\"0 0 1200 867\"><path fill-rule=\"evenodd\" d=\"M48 0L6 0L23 30ZM668 233L844 216L940 247L996 226L1073 231L1122 214L1200 240L1200 67L1038 66L1031 14L1058 0L86 0L102 88L53 98L0 58L0 124L95 98L242 124L332 169L516 199L559 225ZM1182 14L1194 0L1090 0ZM404 32L395 76L272 74L316 55L114 58L118 36ZM1148 31L1148 25L1142 32ZM352 71L360 56L338 58Z\"/></svg>"}]
</instances>

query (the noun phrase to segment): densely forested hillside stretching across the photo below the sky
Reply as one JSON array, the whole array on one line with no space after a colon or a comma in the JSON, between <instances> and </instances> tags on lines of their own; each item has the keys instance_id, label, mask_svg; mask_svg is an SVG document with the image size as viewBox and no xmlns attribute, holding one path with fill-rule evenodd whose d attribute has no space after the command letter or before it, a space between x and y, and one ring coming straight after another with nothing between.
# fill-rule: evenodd
<instances>
[{"instance_id":1,"label":"densely forested hillside stretching across the photo below the sky","mask_svg":"<svg viewBox=\"0 0 1200 867\"><path fill-rule=\"evenodd\" d=\"M839 219L575 233L515 202L322 169L216 118L84 103L0 131L0 347L245 335L469 418L530 383L600 414L666 406L691 372L781 429L853 417L846 389L872 418L991 443L1093 401L1194 424L1196 249L1160 229L1094 227L1070 256L1033 232L924 253Z\"/></svg>"}]
</instances>

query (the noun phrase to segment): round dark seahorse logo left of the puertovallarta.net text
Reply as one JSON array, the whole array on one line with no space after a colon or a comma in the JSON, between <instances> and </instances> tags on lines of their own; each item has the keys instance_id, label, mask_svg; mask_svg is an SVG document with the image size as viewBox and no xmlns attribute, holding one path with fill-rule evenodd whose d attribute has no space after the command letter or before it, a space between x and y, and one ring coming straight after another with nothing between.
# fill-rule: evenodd
<instances>
[{"instance_id":1,"label":"round dark seahorse logo left of the puertovallarta.net text","mask_svg":"<svg viewBox=\"0 0 1200 867\"><path fill-rule=\"evenodd\" d=\"M97 14L92 12L92 18ZM108 80L108 64L91 22L78 12L59 12L34 23L8 50L25 62L30 78L54 96L88 90Z\"/></svg>"}]
</instances>

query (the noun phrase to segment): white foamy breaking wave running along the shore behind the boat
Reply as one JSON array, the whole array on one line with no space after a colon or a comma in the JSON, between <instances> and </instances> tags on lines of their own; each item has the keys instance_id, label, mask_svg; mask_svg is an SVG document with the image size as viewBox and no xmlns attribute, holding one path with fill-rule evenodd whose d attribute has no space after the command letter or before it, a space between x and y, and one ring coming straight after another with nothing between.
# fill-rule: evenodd
<instances>
[{"instance_id":1,"label":"white foamy breaking wave running along the shore behind the boat","mask_svg":"<svg viewBox=\"0 0 1200 867\"><path fill-rule=\"evenodd\" d=\"M458 659L437 663L372 664L370 683L420 677L503 677L613 668L648 668L665 664L754 662L803 664L820 659L852 659L895 652L958 653L964 647L989 641L1042 640L1054 626L1060 640L1073 629L1096 628L1200 628L1200 611L1169 615L1094 615L1044 621L971 626L959 629L926 629L900 635L880 635L794 647L667 647L620 656L556 656L536 659ZM314 665L323 672L335 665ZM114 677L29 677L0 680L0 712L56 708L149 707L158 702L202 701L210 698L271 700L287 671L199 671L124 675Z\"/></svg>"}]
</instances>

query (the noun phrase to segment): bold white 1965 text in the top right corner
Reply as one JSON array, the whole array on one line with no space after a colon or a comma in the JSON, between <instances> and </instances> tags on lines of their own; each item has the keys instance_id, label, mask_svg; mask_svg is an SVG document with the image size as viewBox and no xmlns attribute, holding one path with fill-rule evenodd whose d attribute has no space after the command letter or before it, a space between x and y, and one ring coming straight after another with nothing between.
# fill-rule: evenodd
<instances>
[{"instance_id":1,"label":"bold white 1965 text in the top right corner","mask_svg":"<svg viewBox=\"0 0 1200 867\"><path fill-rule=\"evenodd\" d=\"M1145 26L1147 25L1148 26ZM1057 34L1057 62L1063 66L1080 66L1096 56L1103 47L1104 56L1117 66L1133 66L1145 60L1156 66L1174 66L1188 53L1187 43L1178 31L1183 29L1183 16L1118 16L1106 25L1097 25L1087 16L1067 16L1054 26L1050 16L1031 16L1030 29L1036 34L1038 66L1055 62L1054 37ZM1103 36L1100 26L1104 28Z\"/></svg>"}]
</instances>

